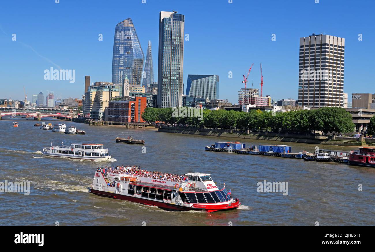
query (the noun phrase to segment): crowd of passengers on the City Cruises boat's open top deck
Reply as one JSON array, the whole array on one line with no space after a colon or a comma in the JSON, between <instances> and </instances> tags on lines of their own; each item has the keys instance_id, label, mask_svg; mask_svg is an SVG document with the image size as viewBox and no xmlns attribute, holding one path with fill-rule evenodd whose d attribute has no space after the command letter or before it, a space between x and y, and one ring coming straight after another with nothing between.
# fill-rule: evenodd
<instances>
[{"instance_id":1,"label":"crowd of passengers on the City Cruises boat's open top deck","mask_svg":"<svg viewBox=\"0 0 375 252\"><path fill-rule=\"evenodd\" d=\"M116 173L116 174L123 174L123 175L133 175L133 176L139 176L139 177L145 177L145 178L154 178L154 179L160 179L160 180L167 180L172 182L186 182L188 181L186 175L177 175L167 172L159 172L159 171L147 171L142 170L139 166L107 166L103 168L97 169L97 171L102 172L104 175L107 174L107 172Z\"/></svg>"}]
</instances>

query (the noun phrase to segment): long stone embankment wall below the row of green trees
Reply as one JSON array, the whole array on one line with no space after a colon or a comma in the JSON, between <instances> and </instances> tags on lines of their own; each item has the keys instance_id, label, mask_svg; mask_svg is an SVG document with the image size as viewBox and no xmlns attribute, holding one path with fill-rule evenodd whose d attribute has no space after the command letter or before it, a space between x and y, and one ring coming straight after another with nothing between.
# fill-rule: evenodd
<instances>
[{"instance_id":1,"label":"long stone embankment wall below the row of green trees","mask_svg":"<svg viewBox=\"0 0 375 252\"><path fill-rule=\"evenodd\" d=\"M245 132L239 130L221 130L221 129L197 129L197 128L182 128L182 127L166 127L161 126L158 132L167 133L181 133L188 135L201 135L201 136L221 136L233 137L242 139L258 139L270 140L281 142L300 142L305 144L327 144L327 145L341 145L341 146L355 146L362 145L362 139L353 138L340 138L328 139L326 136L314 135L291 135L288 133L270 133L270 132ZM372 139L371 139L372 140ZM375 139L374 139L375 142Z\"/></svg>"}]
</instances>

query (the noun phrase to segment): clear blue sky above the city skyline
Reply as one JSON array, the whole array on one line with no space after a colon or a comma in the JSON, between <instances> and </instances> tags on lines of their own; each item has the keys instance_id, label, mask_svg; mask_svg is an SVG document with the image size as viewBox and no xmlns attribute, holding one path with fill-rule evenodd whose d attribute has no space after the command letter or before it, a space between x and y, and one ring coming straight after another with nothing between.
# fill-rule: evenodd
<instances>
[{"instance_id":1,"label":"clear blue sky above the city skyline","mask_svg":"<svg viewBox=\"0 0 375 252\"><path fill-rule=\"evenodd\" d=\"M23 87L28 100L47 90L80 98L85 75L92 82L111 81L114 29L126 18L132 18L144 52L151 40L157 80L159 12L177 10L189 34L185 88L188 74L217 74L219 98L237 102L252 63L249 83L259 87L262 63L264 95L297 99L299 38L324 33L345 38L344 92L351 99L351 93L375 93L374 7L370 0L1 1L0 98L24 99ZM56 65L75 69L75 83L44 80L43 71Z\"/></svg>"}]
</instances>

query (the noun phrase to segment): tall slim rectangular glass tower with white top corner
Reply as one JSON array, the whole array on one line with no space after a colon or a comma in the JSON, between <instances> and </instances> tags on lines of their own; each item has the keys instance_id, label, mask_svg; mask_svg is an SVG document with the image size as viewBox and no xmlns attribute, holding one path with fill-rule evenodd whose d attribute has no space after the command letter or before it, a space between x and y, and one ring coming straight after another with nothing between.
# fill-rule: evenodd
<instances>
[{"instance_id":1,"label":"tall slim rectangular glass tower with white top corner","mask_svg":"<svg viewBox=\"0 0 375 252\"><path fill-rule=\"evenodd\" d=\"M184 15L160 12L157 107L182 106Z\"/></svg>"}]
</instances>

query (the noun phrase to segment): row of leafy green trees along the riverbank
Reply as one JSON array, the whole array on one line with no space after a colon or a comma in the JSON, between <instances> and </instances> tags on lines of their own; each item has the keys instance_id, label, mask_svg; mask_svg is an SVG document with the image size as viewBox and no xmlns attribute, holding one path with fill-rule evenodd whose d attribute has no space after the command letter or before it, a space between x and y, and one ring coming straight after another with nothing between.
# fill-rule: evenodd
<instances>
[{"instance_id":1,"label":"row of leafy green trees along the riverbank","mask_svg":"<svg viewBox=\"0 0 375 252\"><path fill-rule=\"evenodd\" d=\"M344 108L324 107L317 110L287 112L262 112L251 110L249 113L234 110L203 110L199 117L172 116L172 108L146 108L142 118L148 122L181 123L194 127L220 129L249 129L278 132L279 130L322 131L324 133L350 133L354 130L352 117Z\"/></svg>"}]
</instances>

